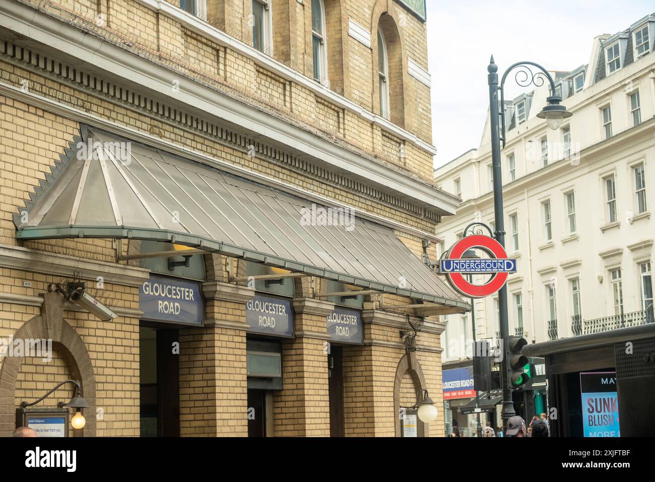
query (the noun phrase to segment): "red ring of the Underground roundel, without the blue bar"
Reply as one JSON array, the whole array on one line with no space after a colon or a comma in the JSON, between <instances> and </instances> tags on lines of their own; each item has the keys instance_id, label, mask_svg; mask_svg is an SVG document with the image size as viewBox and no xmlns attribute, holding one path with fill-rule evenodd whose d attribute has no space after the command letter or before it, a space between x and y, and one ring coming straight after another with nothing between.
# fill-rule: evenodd
<instances>
[{"instance_id":1,"label":"red ring of the Underground roundel, without the blue bar","mask_svg":"<svg viewBox=\"0 0 655 482\"><path fill-rule=\"evenodd\" d=\"M462 257L464 251L471 248L481 248L485 251L491 252L496 259L506 259L507 253L505 249L493 239L493 237L483 236L481 234L476 234L472 236L466 236L460 241L457 241L453 247L451 247L448 252L447 259L457 260ZM502 288L502 286L507 281L509 273L495 273L491 279L484 285L474 285L469 283L464 279L462 273L446 273L446 276L450 279L451 284L457 291L459 291L464 296L470 298L484 298L490 294L494 294L496 291Z\"/></svg>"}]
</instances>

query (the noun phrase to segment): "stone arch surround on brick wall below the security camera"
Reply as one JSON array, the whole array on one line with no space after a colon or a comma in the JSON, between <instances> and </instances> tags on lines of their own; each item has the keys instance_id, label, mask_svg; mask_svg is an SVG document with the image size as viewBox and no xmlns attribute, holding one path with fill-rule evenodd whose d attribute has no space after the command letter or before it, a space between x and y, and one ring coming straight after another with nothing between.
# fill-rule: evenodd
<instances>
[{"instance_id":1,"label":"stone arch surround on brick wall below the security camera","mask_svg":"<svg viewBox=\"0 0 655 482\"><path fill-rule=\"evenodd\" d=\"M82 396L90 408L84 409L86 426L82 436L96 436L96 376L91 358L81 336L64 320L64 298L55 292L43 294L41 315L26 321L16 332L15 340L27 338L52 340L62 354L74 380L79 380ZM7 356L0 366L0 437L9 437L16 426L14 393L16 379L24 357ZM71 434L77 431L71 431Z\"/></svg>"}]
</instances>

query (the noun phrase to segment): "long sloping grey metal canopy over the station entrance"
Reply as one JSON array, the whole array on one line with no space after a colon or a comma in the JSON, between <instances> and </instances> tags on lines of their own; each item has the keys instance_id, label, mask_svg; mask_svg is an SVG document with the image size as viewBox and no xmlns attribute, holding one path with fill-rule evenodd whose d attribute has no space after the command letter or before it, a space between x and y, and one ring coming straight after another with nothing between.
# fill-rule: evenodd
<instances>
[{"instance_id":1,"label":"long sloping grey metal canopy over the station entrance","mask_svg":"<svg viewBox=\"0 0 655 482\"><path fill-rule=\"evenodd\" d=\"M170 241L470 309L389 228L343 211L326 224L329 208L95 128L79 140L14 215L18 239Z\"/></svg>"}]
</instances>

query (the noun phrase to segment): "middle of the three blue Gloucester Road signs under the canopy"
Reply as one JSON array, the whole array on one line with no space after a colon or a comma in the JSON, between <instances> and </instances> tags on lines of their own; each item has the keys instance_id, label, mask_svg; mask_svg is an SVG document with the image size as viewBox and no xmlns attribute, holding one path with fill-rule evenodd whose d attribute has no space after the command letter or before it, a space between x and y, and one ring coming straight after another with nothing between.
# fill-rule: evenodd
<instances>
[{"instance_id":1,"label":"middle of the three blue Gloucester Road signs under the canopy","mask_svg":"<svg viewBox=\"0 0 655 482\"><path fill-rule=\"evenodd\" d=\"M291 301L255 294L246 303L246 323L249 332L293 338Z\"/></svg>"}]
</instances>

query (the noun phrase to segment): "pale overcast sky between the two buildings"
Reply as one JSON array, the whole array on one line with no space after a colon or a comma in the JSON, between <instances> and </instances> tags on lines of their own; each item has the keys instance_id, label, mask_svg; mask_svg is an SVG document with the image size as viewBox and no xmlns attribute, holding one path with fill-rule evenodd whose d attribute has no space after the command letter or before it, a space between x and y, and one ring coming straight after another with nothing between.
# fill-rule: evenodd
<instances>
[{"instance_id":1,"label":"pale overcast sky between the two buildings","mask_svg":"<svg viewBox=\"0 0 655 482\"><path fill-rule=\"evenodd\" d=\"M519 60L573 70L589 62L593 37L625 30L655 11L653 0L427 0L427 5L435 167L479 146L491 54L500 75ZM508 77L505 98L520 92Z\"/></svg>"}]
</instances>

